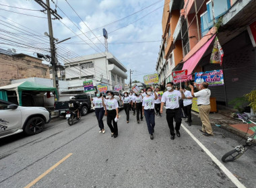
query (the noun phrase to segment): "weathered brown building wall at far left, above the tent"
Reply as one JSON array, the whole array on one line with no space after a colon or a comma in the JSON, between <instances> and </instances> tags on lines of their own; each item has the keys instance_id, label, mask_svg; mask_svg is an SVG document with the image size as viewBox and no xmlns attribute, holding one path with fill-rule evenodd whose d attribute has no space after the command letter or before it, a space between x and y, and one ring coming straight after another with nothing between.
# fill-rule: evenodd
<instances>
[{"instance_id":1,"label":"weathered brown building wall at far left, above the tent","mask_svg":"<svg viewBox=\"0 0 256 188\"><path fill-rule=\"evenodd\" d=\"M0 86L11 84L15 79L40 77L49 79L49 66L42 60L26 54L16 54L0 49Z\"/></svg>"}]
</instances>

